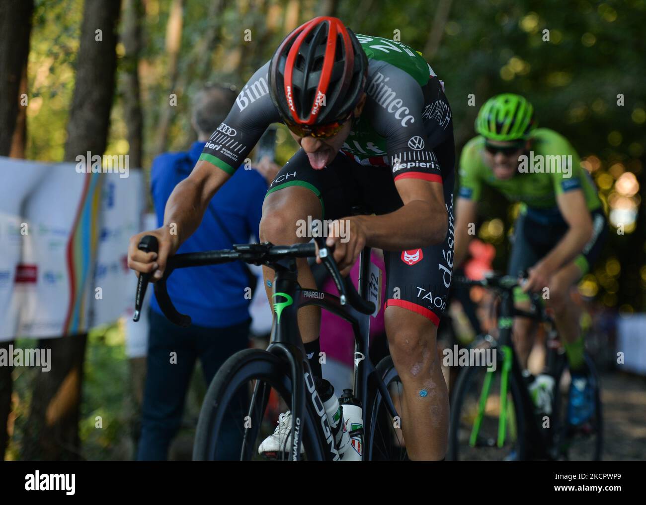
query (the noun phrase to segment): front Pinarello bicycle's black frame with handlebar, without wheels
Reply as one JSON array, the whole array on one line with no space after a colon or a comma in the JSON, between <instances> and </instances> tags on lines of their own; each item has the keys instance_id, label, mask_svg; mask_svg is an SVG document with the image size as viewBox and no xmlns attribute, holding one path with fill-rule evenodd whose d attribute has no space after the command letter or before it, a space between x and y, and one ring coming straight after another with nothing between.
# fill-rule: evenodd
<instances>
[{"instance_id":1,"label":"front Pinarello bicycle's black frame with handlebar, without wheels","mask_svg":"<svg viewBox=\"0 0 646 505\"><path fill-rule=\"evenodd\" d=\"M370 272L370 248L365 248L360 255L360 279L359 292L355 290L349 279L342 279L336 263L331 257L330 251L325 245L322 237L315 237L317 246L314 244L293 244L292 246L274 246L270 243L262 244L234 244L233 250L207 251L201 253L185 253L172 257L167 264L162 279L155 283L155 294L160 308L169 321L179 326L189 326L191 317L182 314L173 306L166 288L166 279L175 268L187 268L190 266L203 266L209 264L220 264L229 261L255 262L255 264L266 264L275 271L274 300L275 312L274 324L271 332L271 341L268 352L271 352L281 359L284 359L289 366L292 382L292 404L291 412L293 417L291 428L291 440L293 446L290 450L291 459L300 459L300 426L302 426L303 409L308 408L315 411L321 421L321 429L315 429L315 437L320 442L320 447L327 446L325 455L317 451L317 459L328 460L340 459L336 442L329 426L328 417L316 388L315 381L306 359L306 353L300 332L298 331L298 309L302 306L317 305L329 310L350 322L355 335L355 356L360 355L362 359L355 360L355 381L354 393L364 407L364 427L366 425L365 411L368 398L368 377L373 379L380 393L384 397L386 406L391 415L395 417L397 412L388 395L388 390L380 377L375 373L375 367L368 357L369 335L370 335L370 314L375 309L373 302L368 301L368 274ZM318 257L322 259L326 268L335 281L340 297L318 290L302 290L298 285L298 272L296 258L313 257L315 247L318 248ZM154 235L146 235L141 238L138 248L145 252L157 252L158 241ZM137 283L135 296L135 311L133 320L138 321L140 317L141 303L145 296L149 283L149 274L142 273ZM256 382L251 403L249 404L249 417L254 413L256 406L264 411L271 388L263 388L262 395L259 395L260 384ZM257 427L245 430L245 439L242 446L242 455L249 455L249 448L245 443L249 433L253 434ZM251 431L248 431L251 430ZM359 433L362 435L362 433Z\"/></svg>"}]
</instances>

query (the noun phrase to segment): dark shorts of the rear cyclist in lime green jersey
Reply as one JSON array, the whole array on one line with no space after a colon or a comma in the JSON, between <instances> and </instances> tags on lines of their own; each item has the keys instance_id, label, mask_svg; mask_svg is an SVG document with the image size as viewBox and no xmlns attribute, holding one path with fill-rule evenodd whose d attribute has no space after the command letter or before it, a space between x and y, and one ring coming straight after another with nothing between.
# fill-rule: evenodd
<instances>
[{"instance_id":1,"label":"dark shorts of the rear cyclist in lime green jersey","mask_svg":"<svg viewBox=\"0 0 646 505\"><path fill-rule=\"evenodd\" d=\"M581 276L590 270L599 257L608 234L608 224L603 210L593 210L590 216L592 217L592 238L585 244L581 254L572 260L581 270ZM547 256L567 233L569 226L565 221L552 224L538 223L529 215L521 213L516 219L514 228L508 275L519 275ZM514 299L520 301L527 297L516 294Z\"/></svg>"}]
</instances>

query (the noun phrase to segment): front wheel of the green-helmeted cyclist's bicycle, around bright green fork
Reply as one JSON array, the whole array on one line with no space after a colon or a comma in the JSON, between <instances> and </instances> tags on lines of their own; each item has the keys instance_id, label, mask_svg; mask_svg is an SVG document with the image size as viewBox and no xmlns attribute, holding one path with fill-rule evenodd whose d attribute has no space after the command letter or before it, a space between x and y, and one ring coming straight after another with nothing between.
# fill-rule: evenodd
<instances>
[{"instance_id":1,"label":"front wheel of the green-helmeted cyclist's bicycle, around bright green fork","mask_svg":"<svg viewBox=\"0 0 646 505\"><path fill-rule=\"evenodd\" d=\"M446 459L526 459L526 425L519 384L510 373L503 408L502 375L500 368L488 372L485 367L475 366L460 373L451 402ZM505 422L501 429L503 413Z\"/></svg>"}]
</instances>

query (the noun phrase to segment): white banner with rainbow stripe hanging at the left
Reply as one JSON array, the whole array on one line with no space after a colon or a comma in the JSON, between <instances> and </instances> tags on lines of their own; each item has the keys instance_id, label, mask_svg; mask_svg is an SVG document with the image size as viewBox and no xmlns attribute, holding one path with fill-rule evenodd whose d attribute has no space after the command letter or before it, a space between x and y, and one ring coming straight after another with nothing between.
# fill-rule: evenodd
<instances>
[{"instance_id":1,"label":"white banner with rainbow stripe hanging at the left","mask_svg":"<svg viewBox=\"0 0 646 505\"><path fill-rule=\"evenodd\" d=\"M0 341L87 332L132 304L143 174L0 157ZM95 278L96 274L96 278Z\"/></svg>"}]
</instances>

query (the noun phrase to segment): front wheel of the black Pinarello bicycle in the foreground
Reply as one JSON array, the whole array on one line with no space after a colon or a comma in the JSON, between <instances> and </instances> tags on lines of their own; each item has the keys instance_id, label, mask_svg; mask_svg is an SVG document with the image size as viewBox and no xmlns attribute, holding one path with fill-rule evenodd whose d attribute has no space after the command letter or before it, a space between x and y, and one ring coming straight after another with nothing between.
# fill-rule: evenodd
<instances>
[{"instance_id":1,"label":"front wheel of the black Pinarello bicycle in the foreground","mask_svg":"<svg viewBox=\"0 0 646 505\"><path fill-rule=\"evenodd\" d=\"M290 449L261 456L258 446L271 435L281 411L291 405L288 366L275 355L247 349L231 356L207 390L195 435L194 460L287 460ZM255 401L252 399L255 398ZM324 458L317 430L320 418L308 408L302 416L302 459ZM285 437L287 439L287 437Z\"/></svg>"}]
</instances>

